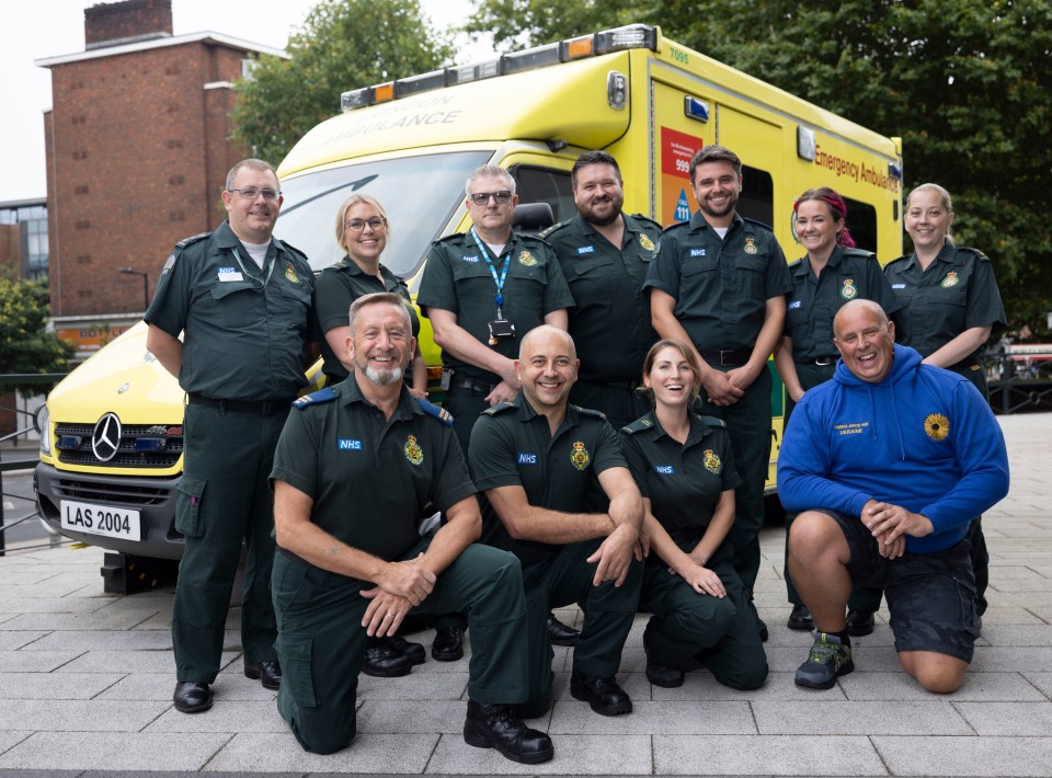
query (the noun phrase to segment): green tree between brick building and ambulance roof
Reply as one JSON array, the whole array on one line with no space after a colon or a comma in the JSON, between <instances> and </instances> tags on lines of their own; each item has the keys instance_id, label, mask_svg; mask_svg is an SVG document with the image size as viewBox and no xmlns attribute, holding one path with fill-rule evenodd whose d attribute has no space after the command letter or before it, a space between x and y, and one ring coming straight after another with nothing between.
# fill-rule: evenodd
<instances>
[{"instance_id":1,"label":"green tree between brick building and ambulance roof","mask_svg":"<svg viewBox=\"0 0 1052 778\"><path fill-rule=\"evenodd\" d=\"M289 59L263 57L236 85L235 137L273 164L339 113L341 92L425 72L453 57L418 0L323 0L286 50Z\"/></svg>"}]
</instances>

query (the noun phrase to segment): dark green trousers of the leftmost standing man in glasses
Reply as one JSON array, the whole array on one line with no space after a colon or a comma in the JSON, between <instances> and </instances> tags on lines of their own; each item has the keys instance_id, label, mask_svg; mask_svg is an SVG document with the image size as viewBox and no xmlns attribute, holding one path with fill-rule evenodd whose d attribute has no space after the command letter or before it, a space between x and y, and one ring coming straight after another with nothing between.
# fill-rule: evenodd
<instances>
[{"instance_id":1,"label":"dark green trousers of the leftmost standing man in glasses","mask_svg":"<svg viewBox=\"0 0 1052 778\"><path fill-rule=\"evenodd\" d=\"M210 684L244 541L241 645L247 663L273 660L274 495L267 477L288 410L265 415L186 405L175 529L186 546L172 608L178 680Z\"/></svg>"}]
</instances>

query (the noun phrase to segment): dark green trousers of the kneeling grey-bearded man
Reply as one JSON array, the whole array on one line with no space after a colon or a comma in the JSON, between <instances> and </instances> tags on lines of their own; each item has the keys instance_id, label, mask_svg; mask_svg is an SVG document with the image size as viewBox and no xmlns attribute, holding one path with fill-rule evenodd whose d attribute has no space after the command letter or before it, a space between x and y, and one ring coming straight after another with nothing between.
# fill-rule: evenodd
<instances>
[{"instance_id":1,"label":"dark green trousers of the kneeling grey-bearded man","mask_svg":"<svg viewBox=\"0 0 1052 778\"><path fill-rule=\"evenodd\" d=\"M405 552L413 559L431 537ZM365 657L362 617L374 584L330 573L278 552L274 561L274 611L282 688L277 710L296 740L315 754L350 745L356 732L355 699ZM411 614L466 613L471 630L468 697L477 702L526 699L526 606L518 559L472 545L438 576Z\"/></svg>"}]
</instances>

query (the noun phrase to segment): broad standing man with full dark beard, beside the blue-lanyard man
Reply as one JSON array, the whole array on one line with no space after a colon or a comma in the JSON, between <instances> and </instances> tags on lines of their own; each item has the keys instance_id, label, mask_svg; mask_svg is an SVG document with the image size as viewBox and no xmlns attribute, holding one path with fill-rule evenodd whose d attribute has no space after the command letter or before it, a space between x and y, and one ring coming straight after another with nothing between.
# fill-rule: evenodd
<instances>
[{"instance_id":1,"label":"broad standing man with full dark beard, beside the blue-lanyard man","mask_svg":"<svg viewBox=\"0 0 1052 778\"><path fill-rule=\"evenodd\" d=\"M650 410L636 388L647 351L658 340L650 295L642 288L661 225L621 210L621 171L606 151L578 157L570 183L578 216L541 234L573 295L570 335L585 355L570 401L603 411L620 428Z\"/></svg>"}]
</instances>

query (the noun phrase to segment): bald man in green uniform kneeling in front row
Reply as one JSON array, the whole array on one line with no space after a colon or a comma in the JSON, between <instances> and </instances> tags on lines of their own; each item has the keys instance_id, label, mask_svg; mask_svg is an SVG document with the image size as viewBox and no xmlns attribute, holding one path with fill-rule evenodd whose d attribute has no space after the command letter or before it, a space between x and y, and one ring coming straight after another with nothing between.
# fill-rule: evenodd
<instances>
[{"instance_id":1,"label":"bald man in green uniform kneeling in front row","mask_svg":"<svg viewBox=\"0 0 1052 778\"><path fill-rule=\"evenodd\" d=\"M614 427L598 411L569 403L579 365L565 331L531 330L515 361L522 392L483 412L471 431L471 474L485 493L483 538L523 563L529 699L517 712L525 718L551 705L549 608L578 602L584 629L570 694L603 716L632 710L616 674L643 579L643 501ZM596 482L609 506L587 513Z\"/></svg>"}]
</instances>

